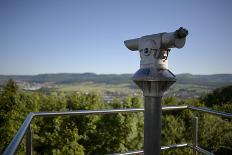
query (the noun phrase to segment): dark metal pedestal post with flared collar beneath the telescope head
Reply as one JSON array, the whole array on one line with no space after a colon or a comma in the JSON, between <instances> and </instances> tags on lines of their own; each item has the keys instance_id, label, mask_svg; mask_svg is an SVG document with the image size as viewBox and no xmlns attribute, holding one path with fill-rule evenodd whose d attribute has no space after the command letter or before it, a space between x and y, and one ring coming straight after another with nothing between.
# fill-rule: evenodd
<instances>
[{"instance_id":1,"label":"dark metal pedestal post with flared collar beneath the telescope head","mask_svg":"<svg viewBox=\"0 0 232 155\"><path fill-rule=\"evenodd\" d=\"M134 82L144 96L144 154L160 155L161 148L161 101L164 92L176 81L169 70L141 68Z\"/></svg>"}]
</instances>

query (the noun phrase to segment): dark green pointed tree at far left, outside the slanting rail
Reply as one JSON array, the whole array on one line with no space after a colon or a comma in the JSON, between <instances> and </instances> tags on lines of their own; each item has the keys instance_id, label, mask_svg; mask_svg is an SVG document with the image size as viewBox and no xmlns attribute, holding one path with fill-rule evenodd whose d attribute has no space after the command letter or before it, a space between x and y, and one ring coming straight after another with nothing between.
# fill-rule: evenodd
<instances>
[{"instance_id":1,"label":"dark green pointed tree at far left, outside the slanting rail","mask_svg":"<svg viewBox=\"0 0 232 155\"><path fill-rule=\"evenodd\" d=\"M30 95L19 91L12 79L5 84L0 93L0 150L1 152L9 144L26 115L36 111L37 106Z\"/></svg>"}]
</instances>

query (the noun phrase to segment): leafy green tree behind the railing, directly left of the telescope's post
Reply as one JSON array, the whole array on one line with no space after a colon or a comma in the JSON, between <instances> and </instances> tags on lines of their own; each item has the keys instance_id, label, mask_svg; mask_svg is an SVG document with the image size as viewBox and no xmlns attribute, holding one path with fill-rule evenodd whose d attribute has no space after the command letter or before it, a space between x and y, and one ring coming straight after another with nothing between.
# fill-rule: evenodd
<instances>
[{"instance_id":1,"label":"leafy green tree behind the railing, directly left of the telescope's post","mask_svg":"<svg viewBox=\"0 0 232 155\"><path fill-rule=\"evenodd\" d=\"M108 108L140 108L141 100L126 97L123 101L114 99ZM127 152L143 147L143 114L119 113L102 115L97 122L96 149L92 154Z\"/></svg>"}]
</instances>

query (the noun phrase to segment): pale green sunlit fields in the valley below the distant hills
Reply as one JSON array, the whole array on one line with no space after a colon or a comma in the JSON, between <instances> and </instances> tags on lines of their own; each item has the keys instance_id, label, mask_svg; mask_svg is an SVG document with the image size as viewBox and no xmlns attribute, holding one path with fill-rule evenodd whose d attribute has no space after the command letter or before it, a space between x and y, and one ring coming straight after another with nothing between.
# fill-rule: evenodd
<instances>
[{"instance_id":1,"label":"pale green sunlit fields in the valley below the distant hills","mask_svg":"<svg viewBox=\"0 0 232 155\"><path fill-rule=\"evenodd\" d=\"M165 93L166 97L176 96L179 98L198 98L211 92L214 88L196 84L174 84ZM100 94L111 94L112 96L142 95L139 89L131 88L129 83L105 84L94 82L72 83L58 85L57 91L62 92L97 92Z\"/></svg>"}]
</instances>

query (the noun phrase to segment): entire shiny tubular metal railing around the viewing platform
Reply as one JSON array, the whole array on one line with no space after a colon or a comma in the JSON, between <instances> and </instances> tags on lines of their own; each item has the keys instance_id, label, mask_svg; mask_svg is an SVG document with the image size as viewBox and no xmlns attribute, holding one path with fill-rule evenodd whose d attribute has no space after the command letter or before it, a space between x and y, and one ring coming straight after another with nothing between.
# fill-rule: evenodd
<instances>
[{"instance_id":1,"label":"entire shiny tubular metal railing around the viewing platform","mask_svg":"<svg viewBox=\"0 0 232 155\"><path fill-rule=\"evenodd\" d=\"M174 110L184 110L190 109L194 111L204 112L220 116L223 118L232 118L232 113L225 113L216 110L211 110L208 108L194 107L194 106L163 106L162 111L174 111ZM31 112L26 117L25 121L21 125L20 129L16 133L15 137L12 139L8 147L5 149L3 155L13 155L17 152L19 144L21 143L23 137L26 135L26 153L31 155L33 153L33 132L31 129L31 122L35 117L55 117L55 116L77 116L77 115L99 115L99 114L116 114L116 113L131 113L131 112L144 112L143 108L134 109L111 109L111 110L78 110L78 111L65 111L65 112ZM183 148L190 147L193 149L193 154L201 152L203 154L212 155L213 153L200 148L197 144L197 133L198 133L198 119L193 118L193 143L192 144L174 144L169 146L162 146L161 150L168 150L173 148ZM117 155L131 155L131 154L143 154L142 150L131 151L127 153L115 153Z\"/></svg>"}]
</instances>

